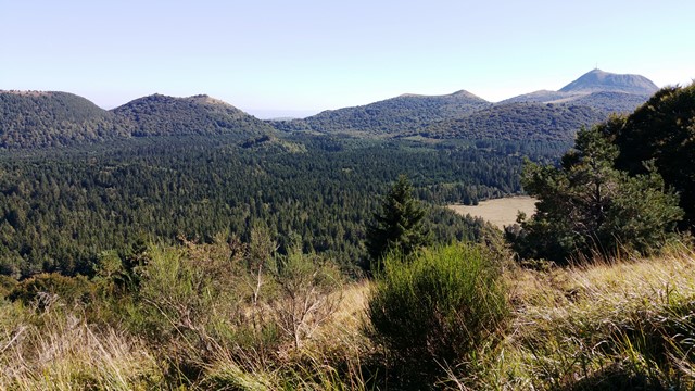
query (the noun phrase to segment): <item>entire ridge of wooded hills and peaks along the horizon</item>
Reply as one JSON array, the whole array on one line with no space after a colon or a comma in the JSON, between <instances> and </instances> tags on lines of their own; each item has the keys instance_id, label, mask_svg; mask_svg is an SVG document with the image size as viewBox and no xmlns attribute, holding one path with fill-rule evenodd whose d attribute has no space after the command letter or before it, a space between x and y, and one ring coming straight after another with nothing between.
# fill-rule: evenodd
<instances>
[{"instance_id":1,"label":"entire ridge of wooded hills and peaks along the horizon","mask_svg":"<svg viewBox=\"0 0 695 391\"><path fill-rule=\"evenodd\" d=\"M1 91L0 148L61 147L115 138L230 135L256 139L282 133L362 137L571 140L581 126L629 113L658 90L640 75L592 70L558 91L540 90L498 103L466 90L405 93L291 121L261 121L205 94L152 94L106 111L67 92Z\"/></svg>"}]
</instances>

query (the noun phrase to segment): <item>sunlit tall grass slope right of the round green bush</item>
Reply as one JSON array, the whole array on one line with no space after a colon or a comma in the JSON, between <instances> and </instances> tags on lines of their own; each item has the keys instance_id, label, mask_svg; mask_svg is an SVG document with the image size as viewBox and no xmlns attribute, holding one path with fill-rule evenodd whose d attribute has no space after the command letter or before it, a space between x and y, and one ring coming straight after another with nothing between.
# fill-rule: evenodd
<instances>
[{"instance_id":1,"label":"sunlit tall grass slope right of the round green bush","mask_svg":"<svg viewBox=\"0 0 695 391\"><path fill-rule=\"evenodd\" d=\"M691 390L695 257L681 247L549 272L515 270L515 320L470 389Z\"/></svg>"}]
</instances>

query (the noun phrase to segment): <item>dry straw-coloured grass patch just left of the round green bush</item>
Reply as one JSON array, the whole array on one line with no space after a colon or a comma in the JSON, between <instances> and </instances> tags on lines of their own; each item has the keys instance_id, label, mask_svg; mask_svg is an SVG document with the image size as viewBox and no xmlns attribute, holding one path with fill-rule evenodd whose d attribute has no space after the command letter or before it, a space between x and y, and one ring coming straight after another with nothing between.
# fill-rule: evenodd
<instances>
[{"instance_id":1,"label":"dry straw-coloured grass patch just left of the round green bush","mask_svg":"<svg viewBox=\"0 0 695 391\"><path fill-rule=\"evenodd\" d=\"M370 283L344 286L339 308L300 349L280 352L271 366L249 367L225 351L207 367L201 389L366 390L363 358L374 349L359 331Z\"/></svg>"}]
</instances>

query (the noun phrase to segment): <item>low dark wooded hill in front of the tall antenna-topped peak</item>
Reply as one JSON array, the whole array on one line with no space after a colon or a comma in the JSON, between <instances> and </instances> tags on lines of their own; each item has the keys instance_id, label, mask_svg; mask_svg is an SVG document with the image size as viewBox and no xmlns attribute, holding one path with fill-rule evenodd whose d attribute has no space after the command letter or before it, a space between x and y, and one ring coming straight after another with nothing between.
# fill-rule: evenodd
<instances>
[{"instance_id":1,"label":"low dark wooded hill in front of the tall antenna-topped peak","mask_svg":"<svg viewBox=\"0 0 695 391\"><path fill-rule=\"evenodd\" d=\"M432 124L419 135L446 139L572 141L582 126L604 119L602 112L585 105L515 102Z\"/></svg>"}]
</instances>

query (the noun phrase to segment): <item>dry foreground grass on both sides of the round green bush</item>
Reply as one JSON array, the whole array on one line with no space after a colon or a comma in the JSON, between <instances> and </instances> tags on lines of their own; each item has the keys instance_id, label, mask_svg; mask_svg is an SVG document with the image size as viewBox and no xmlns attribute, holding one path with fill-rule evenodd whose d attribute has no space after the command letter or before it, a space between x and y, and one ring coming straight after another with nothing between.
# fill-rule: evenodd
<instances>
[{"instance_id":1,"label":"dry foreground grass on both sides of the round green bush","mask_svg":"<svg viewBox=\"0 0 695 391\"><path fill-rule=\"evenodd\" d=\"M446 366L447 375L432 388L695 388L692 250L546 270L513 266L504 278L513 313L500 330L500 342L479 346L460 365ZM329 317L302 323L315 325L311 333L300 340L295 332L279 343L263 342L265 333L242 343L242 328L224 328L212 315L208 328L193 323L185 330L177 324L169 338L152 336L137 326L144 320L131 319L144 315L130 302L121 303L117 317L93 301L66 302L55 295L31 304L2 300L0 389L397 389L388 356L364 335L370 289L369 282L341 285L321 299L339 303ZM174 292L167 300L181 294ZM166 301L157 303L164 308ZM228 311L216 303L204 305ZM270 317L273 308L247 319ZM156 330L168 330L172 315L159 314L165 319ZM194 348L204 353L187 351Z\"/></svg>"}]
</instances>

